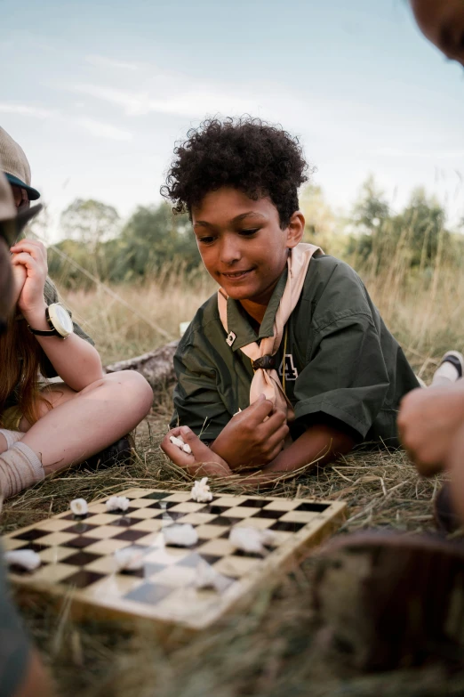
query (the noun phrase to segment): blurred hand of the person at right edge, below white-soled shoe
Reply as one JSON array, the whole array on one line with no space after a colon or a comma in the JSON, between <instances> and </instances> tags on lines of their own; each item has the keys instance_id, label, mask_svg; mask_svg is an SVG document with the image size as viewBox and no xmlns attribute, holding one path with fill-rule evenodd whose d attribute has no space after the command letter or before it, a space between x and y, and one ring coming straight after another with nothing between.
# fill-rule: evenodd
<instances>
[{"instance_id":1,"label":"blurred hand of the person at right edge, below white-soled shoe","mask_svg":"<svg viewBox=\"0 0 464 697\"><path fill-rule=\"evenodd\" d=\"M401 402L398 431L420 474L443 469L455 434L464 425L464 380L449 387L413 390Z\"/></svg>"}]
</instances>

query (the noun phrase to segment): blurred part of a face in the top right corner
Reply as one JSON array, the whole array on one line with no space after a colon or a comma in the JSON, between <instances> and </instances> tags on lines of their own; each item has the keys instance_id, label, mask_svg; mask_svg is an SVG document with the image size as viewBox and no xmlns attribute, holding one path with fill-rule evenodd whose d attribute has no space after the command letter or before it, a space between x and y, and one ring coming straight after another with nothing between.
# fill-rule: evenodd
<instances>
[{"instance_id":1,"label":"blurred part of a face in the top right corner","mask_svg":"<svg viewBox=\"0 0 464 697\"><path fill-rule=\"evenodd\" d=\"M411 6L428 40L464 65L464 0L411 0Z\"/></svg>"}]
</instances>

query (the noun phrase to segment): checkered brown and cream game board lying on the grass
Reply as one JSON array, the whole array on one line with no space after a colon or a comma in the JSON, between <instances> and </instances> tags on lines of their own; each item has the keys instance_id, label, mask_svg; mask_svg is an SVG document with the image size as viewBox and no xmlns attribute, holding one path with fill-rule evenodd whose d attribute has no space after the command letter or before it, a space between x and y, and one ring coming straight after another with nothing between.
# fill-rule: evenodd
<instances>
[{"instance_id":1,"label":"checkered brown and cream game board lying on the grass","mask_svg":"<svg viewBox=\"0 0 464 697\"><path fill-rule=\"evenodd\" d=\"M89 506L84 520L69 511L4 536L5 549L33 549L42 564L32 572L12 572L20 590L71 596L81 611L125 615L161 624L201 629L241 599L291 568L335 531L345 517L342 502L302 498L214 496L196 503L188 492L130 489L127 511L108 513L107 498ZM165 525L191 523L194 547L164 544ZM228 541L234 525L275 533L267 555L247 554ZM143 569L116 572L114 552L135 547ZM201 559L219 571L219 590L196 589Z\"/></svg>"}]
</instances>

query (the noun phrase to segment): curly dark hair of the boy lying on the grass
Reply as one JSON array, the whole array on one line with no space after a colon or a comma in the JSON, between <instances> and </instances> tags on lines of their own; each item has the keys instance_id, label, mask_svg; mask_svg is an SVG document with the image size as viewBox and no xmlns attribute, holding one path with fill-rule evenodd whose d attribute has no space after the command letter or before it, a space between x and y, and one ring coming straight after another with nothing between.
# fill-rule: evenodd
<instances>
[{"instance_id":1,"label":"curly dark hair of the boy lying on the grass","mask_svg":"<svg viewBox=\"0 0 464 697\"><path fill-rule=\"evenodd\" d=\"M298 210L298 188L308 164L298 138L259 118L205 120L174 150L161 188L175 213L188 213L209 191L231 186L253 200L268 196L285 228Z\"/></svg>"}]
</instances>

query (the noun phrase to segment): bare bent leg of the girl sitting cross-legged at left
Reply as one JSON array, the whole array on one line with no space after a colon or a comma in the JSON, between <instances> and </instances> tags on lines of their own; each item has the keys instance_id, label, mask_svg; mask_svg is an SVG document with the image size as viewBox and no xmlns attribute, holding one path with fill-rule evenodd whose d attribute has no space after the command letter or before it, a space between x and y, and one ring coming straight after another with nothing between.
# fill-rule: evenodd
<instances>
[{"instance_id":1,"label":"bare bent leg of the girl sitting cross-legged at left","mask_svg":"<svg viewBox=\"0 0 464 697\"><path fill-rule=\"evenodd\" d=\"M127 434L153 401L148 382L132 370L102 377L79 393L60 385L48 394L53 408L44 406L32 426L20 423L27 431L22 442L40 455L45 474L83 462Z\"/></svg>"}]
</instances>

